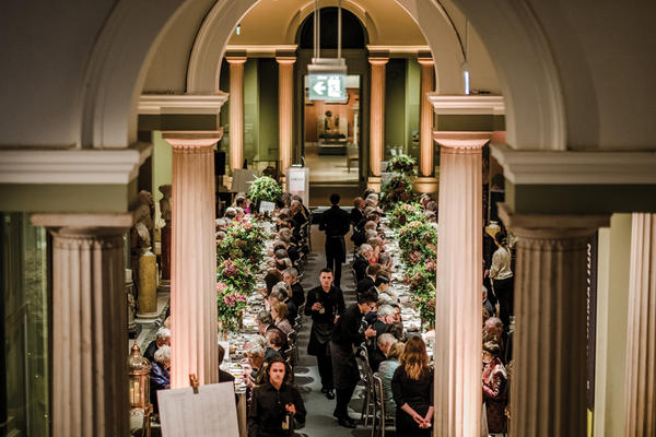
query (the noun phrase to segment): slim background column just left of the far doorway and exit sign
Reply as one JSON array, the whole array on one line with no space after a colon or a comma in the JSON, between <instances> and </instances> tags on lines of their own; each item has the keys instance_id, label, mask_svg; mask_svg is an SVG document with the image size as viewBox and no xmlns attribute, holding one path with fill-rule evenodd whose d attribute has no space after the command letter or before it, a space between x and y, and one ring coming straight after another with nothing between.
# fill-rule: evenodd
<instances>
[{"instance_id":1,"label":"slim background column just left of the far doorway and exit sign","mask_svg":"<svg viewBox=\"0 0 656 437\"><path fill-rule=\"evenodd\" d=\"M292 166L294 138L294 62L296 58L277 57L278 61L278 150L280 173Z\"/></svg>"}]
</instances>

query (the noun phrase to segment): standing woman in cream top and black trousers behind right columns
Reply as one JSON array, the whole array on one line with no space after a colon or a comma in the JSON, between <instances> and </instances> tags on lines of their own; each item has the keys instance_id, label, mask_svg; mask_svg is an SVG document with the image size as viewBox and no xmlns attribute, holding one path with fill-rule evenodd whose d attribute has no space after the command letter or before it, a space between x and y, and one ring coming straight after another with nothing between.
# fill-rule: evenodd
<instances>
[{"instance_id":1,"label":"standing woman in cream top and black trousers behind right columns","mask_svg":"<svg viewBox=\"0 0 656 437\"><path fill-rule=\"evenodd\" d=\"M499 232L494 236L496 251L492 255L492 267L490 268L490 279L494 287L494 294L499 299L499 318L503 322L503 328L508 332L511 328L511 315L513 314L513 287L514 277L511 270L511 249L507 244L507 234Z\"/></svg>"}]
</instances>

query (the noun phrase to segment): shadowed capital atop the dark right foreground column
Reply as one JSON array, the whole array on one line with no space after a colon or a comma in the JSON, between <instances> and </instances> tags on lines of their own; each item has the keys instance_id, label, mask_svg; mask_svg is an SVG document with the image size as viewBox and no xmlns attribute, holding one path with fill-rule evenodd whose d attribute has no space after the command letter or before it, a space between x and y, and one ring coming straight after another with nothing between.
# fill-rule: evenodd
<instances>
[{"instance_id":1,"label":"shadowed capital atop the dark right foreground column","mask_svg":"<svg viewBox=\"0 0 656 437\"><path fill-rule=\"evenodd\" d=\"M578 238L593 235L599 227L610 226L610 214L516 214L506 203L497 205L503 223L520 237Z\"/></svg>"}]
</instances>

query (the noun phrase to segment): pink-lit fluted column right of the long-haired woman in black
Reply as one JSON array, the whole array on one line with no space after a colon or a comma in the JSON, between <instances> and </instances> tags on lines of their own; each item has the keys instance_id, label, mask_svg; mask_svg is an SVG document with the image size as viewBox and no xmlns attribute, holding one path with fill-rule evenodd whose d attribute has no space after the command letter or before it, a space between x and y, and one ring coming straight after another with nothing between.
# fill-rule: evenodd
<instances>
[{"instance_id":1,"label":"pink-lit fluted column right of the long-haired woman in black","mask_svg":"<svg viewBox=\"0 0 656 437\"><path fill-rule=\"evenodd\" d=\"M435 316L435 435L478 437L481 422L482 147L442 141Z\"/></svg>"}]
</instances>

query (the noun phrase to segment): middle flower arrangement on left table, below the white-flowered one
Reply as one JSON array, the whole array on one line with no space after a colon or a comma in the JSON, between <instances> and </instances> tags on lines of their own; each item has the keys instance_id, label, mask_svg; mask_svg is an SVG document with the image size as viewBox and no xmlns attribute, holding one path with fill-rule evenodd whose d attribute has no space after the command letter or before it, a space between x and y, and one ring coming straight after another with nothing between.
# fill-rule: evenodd
<instances>
[{"instance_id":1,"label":"middle flower arrangement on left table, below the white-flowered one","mask_svg":"<svg viewBox=\"0 0 656 437\"><path fill-rule=\"evenodd\" d=\"M254 222L233 223L225 229L225 237L216 243L216 259L245 260L257 265L263 257L265 235Z\"/></svg>"}]
</instances>

